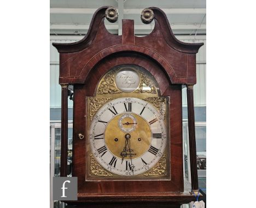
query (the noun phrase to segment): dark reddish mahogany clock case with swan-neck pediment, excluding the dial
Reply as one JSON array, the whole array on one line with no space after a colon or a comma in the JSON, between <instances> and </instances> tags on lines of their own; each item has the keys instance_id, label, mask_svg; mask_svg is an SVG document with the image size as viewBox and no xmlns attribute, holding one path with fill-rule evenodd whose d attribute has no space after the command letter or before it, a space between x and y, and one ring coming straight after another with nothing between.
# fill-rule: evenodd
<instances>
[{"instance_id":1,"label":"dark reddish mahogany clock case with swan-neck pediment, excluding the dial","mask_svg":"<svg viewBox=\"0 0 256 208\"><path fill-rule=\"evenodd\" d=\"M60 52L60 84L62 85L62 151L61 176L66 176L67 157L67 85L74 85L73 95L73 173L78 177L78 201L69 205L100 206L102 201L113 205L151 203L175 207L194 200L184 190L182 143L182 85L196 83L195 55L202 44L178 41L170 28L166 15L158 8L154 11L155 28L144 37L134 35L133 20L123 20L123 34L110 34L104 26L105 11L98 9L92 17L88 34L72 44L53 44ZM136 64L152 74L159 84L160 96L169 100L170 181L85 181L86 173L86 96L94 96L102 75L120 64ZM193 101L193 88L189 96ZM191 101L190 101L191 104ZM194 106L189 105L189 113ZM193 104L193 103L192 103ZM193 115L194 117L194 115ZM193 118L190 116L190 139L193 138ZM79 139L78 134L85 135ZM195 144L195 142L193 143ZM195 145L190 147L195 152ZM194 153L195 154L195 153ZM190 155L191 156L191 155ZM192 158L193 159L196 158ZM190 159L191 160L191 159ZM67 160L66 160L67 161ZM196 162L196 160L194 160ZM193 165L192 165L193 166ZM197 173L193 172L193 189L198 188ZM196 174L196 175L195 175ZM197 187L196 187L197 185ZM122 206L123 206L122 205ZM112 206L113 207L113 206ZM124 207L124 206L123 206Z\"/></svg>"}]
</instances>

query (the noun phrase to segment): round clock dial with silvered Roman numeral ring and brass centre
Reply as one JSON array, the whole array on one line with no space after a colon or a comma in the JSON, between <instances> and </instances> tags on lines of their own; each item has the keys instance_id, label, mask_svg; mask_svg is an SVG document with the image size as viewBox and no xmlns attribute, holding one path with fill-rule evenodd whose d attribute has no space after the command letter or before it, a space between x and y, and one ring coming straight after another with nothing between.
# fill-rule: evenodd
<instances>
[{"instance_id":1,"label":"round clock dial with silvered Roman numeral ring and brass centre","mask_svg":"<svg viewBox=\"0 0 256 208\"><path fill-rule=\"evenodd\" d=\"M122 97L103 105L90 126L90 146L101 166L132 176L152 168L164 154L166 127L148 102Z\"/></svg>"}]
</instances>

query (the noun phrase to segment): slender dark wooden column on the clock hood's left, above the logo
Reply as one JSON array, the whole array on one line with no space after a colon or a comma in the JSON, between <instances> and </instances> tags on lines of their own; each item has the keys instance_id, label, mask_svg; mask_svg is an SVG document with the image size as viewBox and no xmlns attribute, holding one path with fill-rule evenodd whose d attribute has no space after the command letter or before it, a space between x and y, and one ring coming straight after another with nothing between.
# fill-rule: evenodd
<instances>
[{"instance_id":1,"label":"slender dark wooden column on the clock hood's left, above the logo","mask_svg":"<svg viewBox=\"0 0 256 208\"><path fill-rule=\"evenodd\" d=\"M60 176L67 176L68 85L61 84L61 167Z\"/></svg>"}]
</instances>

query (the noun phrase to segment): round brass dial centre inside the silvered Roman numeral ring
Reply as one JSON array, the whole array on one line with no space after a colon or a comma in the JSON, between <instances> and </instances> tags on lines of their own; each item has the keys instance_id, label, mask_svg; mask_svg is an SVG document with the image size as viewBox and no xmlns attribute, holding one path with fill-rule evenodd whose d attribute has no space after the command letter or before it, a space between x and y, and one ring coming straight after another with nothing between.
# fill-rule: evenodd
<instances>
[{"instance_id":1,"label":"round brass dial centre inside the silvered Roman numeral ring","mask_svg":"<svg viewBox=\"0 0 256 208\"><path fill-rule=\"evenodd\" d=\"M126 125L127 122L129 125ZM118 138L118 142L114 138ZM115 157L135 160L148 151L152 143L152 131L141 115L123 113L109 121L104 132L104 141Z\"/></svg>"}]
</instances>

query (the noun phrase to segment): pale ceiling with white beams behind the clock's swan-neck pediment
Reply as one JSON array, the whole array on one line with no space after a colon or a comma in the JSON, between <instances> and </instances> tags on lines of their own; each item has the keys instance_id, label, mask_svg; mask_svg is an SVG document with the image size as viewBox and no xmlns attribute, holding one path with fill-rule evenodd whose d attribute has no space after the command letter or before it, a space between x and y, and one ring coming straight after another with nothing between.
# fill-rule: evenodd
<instances>
[{"instance_id":1,"label":"pale ceiling with white beams behind the clock's swan-neck pediment","mask_svg":"<svg viewBox=\"0 0 256 208\"><path fill-rule=\"evenodd\" d=\"M165 11L174 34L206 34L206 0L51 0L50 34L86 34L92 15L104 5L118 8L119 21L122 16L135 20L136 35L146 35L154 28L154 21L145 25L140 19L141 11L148 7ZM120 34L120 23L105 24L110 33Z\"/></svg>"}]
</instances>

